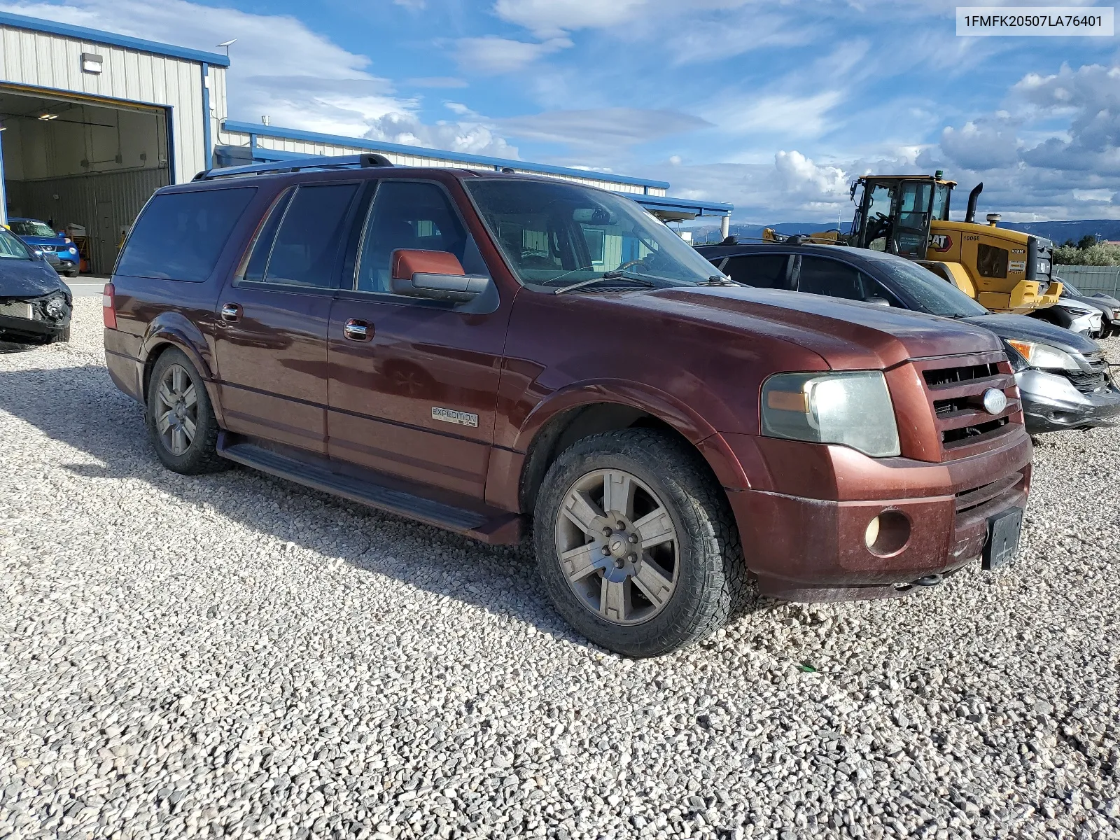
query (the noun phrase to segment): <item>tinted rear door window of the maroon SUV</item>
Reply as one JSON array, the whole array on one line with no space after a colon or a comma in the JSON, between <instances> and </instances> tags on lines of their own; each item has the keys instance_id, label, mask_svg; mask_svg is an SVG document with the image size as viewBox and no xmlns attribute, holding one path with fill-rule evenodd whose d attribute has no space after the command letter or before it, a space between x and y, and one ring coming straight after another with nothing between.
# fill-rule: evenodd
<instances>
[{"instance_id":1,"label":"tinted rear door window of the maroon SUV","mask_svg":"<svg viewBox=\"0 0 1120 840\"><path fill-rule=\"evenodd\" d=\"M329 289L356 184L311 184L272 208L249 259L244 281Z\"/></svg>"}]
</instances>

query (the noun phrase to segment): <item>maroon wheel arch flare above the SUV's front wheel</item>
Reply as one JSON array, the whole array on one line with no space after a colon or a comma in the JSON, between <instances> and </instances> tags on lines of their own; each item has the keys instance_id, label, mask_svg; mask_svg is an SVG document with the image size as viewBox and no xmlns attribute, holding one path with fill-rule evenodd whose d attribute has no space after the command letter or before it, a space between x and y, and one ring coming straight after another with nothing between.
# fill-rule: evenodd
<instances>
[{"instance_id":1,"label":"maroon wheel arch flare above the SUV's front wheel","mask_svg":"<svg viewBox=\"0 0 1120 840\"><path fill-rule=\"evenodd\" d=\"M631 380L576 382L554 391L525 418L514 449L528 452L538 432L560 412L603 402L628 405L663 420L697 447L724 487L750 486L727 441L698 411L660 389Z\"/></svg>"}]
</instances>

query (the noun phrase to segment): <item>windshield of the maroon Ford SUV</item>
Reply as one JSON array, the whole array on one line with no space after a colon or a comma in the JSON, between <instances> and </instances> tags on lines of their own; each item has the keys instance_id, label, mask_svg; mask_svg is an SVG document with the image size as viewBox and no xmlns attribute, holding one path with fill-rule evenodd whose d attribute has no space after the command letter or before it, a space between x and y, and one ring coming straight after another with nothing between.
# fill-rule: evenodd
<instances>
[{"instance_id":1,"label":"windshield of the maroon Ford SUV","mask_svg":"<svg viewBox=\"0 0 1120 840\"><path fill-rule=\"evenodd\" d=\"M708 282L711 264L628 198L577 184L467 183L517 279L558 288L607 272L655 286ZM625 279L619 282L625 283Z\"/></svg>"}]
</instances>

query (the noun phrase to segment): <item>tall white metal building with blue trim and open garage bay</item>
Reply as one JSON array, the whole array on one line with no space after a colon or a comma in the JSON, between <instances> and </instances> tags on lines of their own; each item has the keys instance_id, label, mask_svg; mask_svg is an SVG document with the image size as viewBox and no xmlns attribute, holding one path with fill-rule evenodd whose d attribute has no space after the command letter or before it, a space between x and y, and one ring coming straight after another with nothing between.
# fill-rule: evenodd
<instances>
[{"instance_id":1,"label":"tall white metal building with blue trim and open garage bay","mask_svg":"<svg viewBox=\"0 0 1120 840\"><path fill-rule=\"evenodd\" d=\"M212 165L228 64L0 12L0 222L81 225L88 269L111 271L152 192Z\"/></svg>"}]
</instances>

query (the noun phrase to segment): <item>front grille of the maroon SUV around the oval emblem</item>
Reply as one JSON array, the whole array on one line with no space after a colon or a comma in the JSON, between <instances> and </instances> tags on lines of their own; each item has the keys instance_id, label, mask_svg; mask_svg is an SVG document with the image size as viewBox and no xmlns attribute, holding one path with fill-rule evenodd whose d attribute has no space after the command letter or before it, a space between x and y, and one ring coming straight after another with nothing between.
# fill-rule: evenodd
<instances>
[{"instance_id":1,"label":"front grille of the maroon SUV around the oval emblem","mask_svg":"<svg viewBox=\"0 0 1120 840\"><path fill-rule=\"evenodd\" d=\"M1023 423L1015 375L1002 353L915 360L912 364L922 373L933 409L941 460L983 451ZM983 394L989 389L1002 391L1007 396L1007 408L995 416L983 408Z\"/></svg>"}]
</instances>

